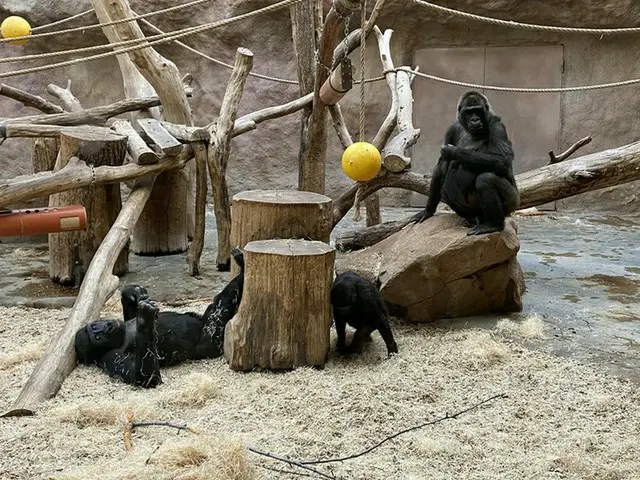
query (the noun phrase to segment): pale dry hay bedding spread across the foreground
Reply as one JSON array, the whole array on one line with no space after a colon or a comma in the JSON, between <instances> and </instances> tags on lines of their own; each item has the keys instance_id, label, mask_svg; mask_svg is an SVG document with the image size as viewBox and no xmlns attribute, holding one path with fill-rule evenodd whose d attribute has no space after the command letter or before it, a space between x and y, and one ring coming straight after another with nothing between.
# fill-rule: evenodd
<instances>
[{"instance_id":1,"label":"pale dry hay bedding spread across the foreground","mask_svg":"<svg viewBox=\"0 0 640 480\"><path fill-rule=\"evenodd\" d=\"M203 305L179 310L189 309ZM0 308L0 324L11 325L0 329L4 355L44 342L39 332L57 331L65 315ZM492 330L395 323L400 354L391 359L374 335L365 354L342 359L332 351L323 370L243 374L223 359L206 360L165 369L164 383L146 391L80 367L36 417L3 420L0 478L298 478L261 468L289 469L246 447L303 460L353 454L501 393L508 398L317 468L349 480L640 478L637 387L598 366L526 348L545 336L543 325L535 316ZM34 364L26 358L0 370L2 409ZM141 427L126 452L129 410L136 420L201 434Z\"/></svg>"}]
</instances>

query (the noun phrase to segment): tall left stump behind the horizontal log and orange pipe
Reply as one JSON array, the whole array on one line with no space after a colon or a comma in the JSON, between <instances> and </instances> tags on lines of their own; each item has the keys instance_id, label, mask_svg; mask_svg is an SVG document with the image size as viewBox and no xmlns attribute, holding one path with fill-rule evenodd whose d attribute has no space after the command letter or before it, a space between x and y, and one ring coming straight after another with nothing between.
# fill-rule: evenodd
<instances>
[{"instance_id":1,"label":"tall left stump behind the horizontal log and orange pipe","mask_svg":"<svg viewBox=\"0 0 640 480\"><path fill-rule=\"evenodd\" d=\"M127 137L108 128L72 127L60 133L60 154L54 171L59 171L72 157L88 165L119 166L127 153ZM74 273L74 242L78 242L81 270L86 270L96 250L118 217L122 206L120 184L95 185L86 189L69 190L49 197L49 206L81 204L86 196L87 228L85 231L49 234L49 276L54 282L69 285L80 278ZM127 272L128 246L115 262L114 275Z\"/></svg>"}]
</instances>

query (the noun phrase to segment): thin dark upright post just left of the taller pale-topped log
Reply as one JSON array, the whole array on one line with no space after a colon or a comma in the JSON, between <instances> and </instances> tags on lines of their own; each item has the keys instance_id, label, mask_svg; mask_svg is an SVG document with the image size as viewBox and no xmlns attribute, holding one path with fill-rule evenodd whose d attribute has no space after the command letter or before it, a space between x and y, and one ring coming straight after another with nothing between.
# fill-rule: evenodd
<instances>
[{"instance_id":1,"label":"thin dark upright post just left of the taller pale-topped log","mask_svg":"<svg viewBox=\"0 0 640 480\"><path fill-rule=\"evenodd\" d=\"M196 228L187 252L187 265L189 275L199 277L207 215L207 144L194 142L192 147L196 158Z\"/></svg>"}]
</instances>

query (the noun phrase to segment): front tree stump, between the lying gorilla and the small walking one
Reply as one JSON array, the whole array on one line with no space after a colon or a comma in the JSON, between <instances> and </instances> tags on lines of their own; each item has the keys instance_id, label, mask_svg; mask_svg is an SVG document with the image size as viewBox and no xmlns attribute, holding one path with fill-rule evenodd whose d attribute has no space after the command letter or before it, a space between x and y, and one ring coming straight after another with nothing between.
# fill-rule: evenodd
<instances>
[{"instance_id":1,"label":"front tree stump, between the lying gorilla and the small walking one","mask_svg":"<svg viewBox=\"0 0 640 480\"><path fill-rule=\"evenodd\" d=\"M261 240L244 249L242 302L227 324L233 370L322 366L329 354L335 249L309 240Z\"/></svg>"}]
</instances>

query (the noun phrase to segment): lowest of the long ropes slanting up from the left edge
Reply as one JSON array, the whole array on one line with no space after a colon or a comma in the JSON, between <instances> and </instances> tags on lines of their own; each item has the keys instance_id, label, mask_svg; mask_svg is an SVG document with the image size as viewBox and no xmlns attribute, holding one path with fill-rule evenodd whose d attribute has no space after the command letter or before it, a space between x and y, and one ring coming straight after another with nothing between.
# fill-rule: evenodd
<instances>
[{"instance_id":1,"label":"lowest of the long ropes slanting up from the left edge","mask_svg":"<svg viewBox=\"0 0 640 480\"><path fill-rule=\"evenodd\" d=\"M272 5L257 9L257 10L253 10L251 12L247 12L247 13L243 13L241 15L237 15L235 17L230 17L230 18L226 18L223 20L218 20L216 22L211 22L211 23L206 23L204 25L200 25L197 27L190 27L190 28L185 28L182 30L178 30L176 32L171 32L170 34L167 35L157 35L156 37L149 37L146 40L150 40L151 38L157 38L157 37L161 37L161 38L157 38L157 40L153 40L150 42L144 42L142 45L134 45L132 47L128 47L128 48L123 48L120 50L116 50L114 52L105 52L105 53L100 53L98 55L91 55L88 57L82 57L82 58L77 58L74 60L67 60L65 62L58 62L58 63L53 63L50 65L42 65L39 67L32 67L32 68L25 68L22 70L15 70L13 72L3 72L0 73L0 78L8 78L8 77L15 77L18 75L26 75L28 73L35 73L35 72L42 72L42 71L46 71L46 70L53 70L54 68L59 68L59 67L66 67L68 65L75 65L78 63L82 63L82 62L87 62L89 60L98 60L101 58L107 58L107 57L112 57L115 55L121 55L124 53L128 53L128 52L133 52L135 50L141 50L143 48L147 48L147 47L151 47L153 45L157 45L160 43L167 43L167 42L171 42L177 38L182 38L182 37L186 37L188 35L193 35L196 33L201 33L201 32L205 32L207 30L212 30L214 28L218 28L221 27L223 25L228 25L230 23L234 23L240 20L244 20L256 15L260 15L263 13L268 13L268 12L272 12L274 10L278 10L281 8L285 8L291 5L294 5L296 3L301 2L302 0L282 0L278 3L274 3ZM136 40L139 42L139 40ZM144 39L143 39L144 41ZM111 46L116 46L116 45L120 45L122 43L130 43L130 42L117 42L117 43L113 43L111 44Z\"/></svg>"}]
</instances>

